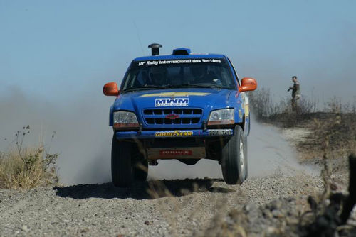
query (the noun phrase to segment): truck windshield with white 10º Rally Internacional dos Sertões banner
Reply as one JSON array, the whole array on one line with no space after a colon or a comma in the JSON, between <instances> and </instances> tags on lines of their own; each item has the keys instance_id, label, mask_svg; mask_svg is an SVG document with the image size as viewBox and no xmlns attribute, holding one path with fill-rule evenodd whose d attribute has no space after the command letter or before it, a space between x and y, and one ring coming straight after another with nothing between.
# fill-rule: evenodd
<instances>
[{"instance_id":1,"label":"truck windshield with white 10\u00ba Rally Internacional dos Sert\u00f5es banner","mask_svg":"<svg viewBox=\"0 0 356 237\"><path fill-rule=\"evenodd\" d=\"M236 89L224 59L147 60L132 62L123 92L168 88Z\"/></svg>"}]
</instances>

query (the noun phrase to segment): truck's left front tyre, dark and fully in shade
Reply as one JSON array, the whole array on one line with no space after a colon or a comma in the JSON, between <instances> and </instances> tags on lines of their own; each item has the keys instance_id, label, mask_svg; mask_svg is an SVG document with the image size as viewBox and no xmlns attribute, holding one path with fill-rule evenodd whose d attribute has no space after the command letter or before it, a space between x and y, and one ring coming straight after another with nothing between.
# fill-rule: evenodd
<instances>
[{"instance_id":1,"label":"truck's left front tyre, dark and fully in shade","mask_svg":"<svg viewBox=\"0 0 356 237\"><path fill-rule=\"evenodd\" d=\"M111 177L115 187L130 187L133 182L132 143L119 142L112 137Z\"/></svg>"}]
</instances>

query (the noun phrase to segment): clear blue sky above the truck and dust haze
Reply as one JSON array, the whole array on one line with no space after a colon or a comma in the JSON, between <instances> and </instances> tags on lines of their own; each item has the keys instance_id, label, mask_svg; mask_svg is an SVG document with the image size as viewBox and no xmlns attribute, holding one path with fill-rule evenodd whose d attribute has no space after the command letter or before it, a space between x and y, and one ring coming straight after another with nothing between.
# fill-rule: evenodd
<instances>
[{"instance_id":1,"label":"clear blue sky above the truck and dust haze","mask_svg":"<svg viewBox=\"0 0 356 237\"><path fill-rule=\"evenodd\" d=\"M133 57L188 47L224 53L276 97L356 95L356 1L0 0L0 93L101 96ZM142 45L142 46L141 46ZM346 85L346 87L345 87Z\"/></svg>"}]
</instances>

